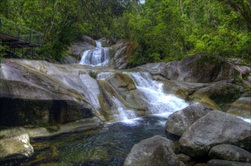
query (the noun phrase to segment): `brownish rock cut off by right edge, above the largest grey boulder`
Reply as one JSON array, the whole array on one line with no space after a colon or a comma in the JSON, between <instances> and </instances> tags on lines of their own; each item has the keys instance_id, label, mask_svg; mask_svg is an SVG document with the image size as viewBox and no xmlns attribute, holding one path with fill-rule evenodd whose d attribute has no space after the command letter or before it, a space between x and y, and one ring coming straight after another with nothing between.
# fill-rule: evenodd
<instances>
[{"instance_id":1,"label":"brownish rock cut off by right edge, above the largest grey boulder","mask_svg":"<svg viewBox=\"0 0 251 166\"><path fill-rule=\"evenodd\" d=\"M241 116L243 118L251 118L251 97L241 97L231 104L227 113Z\"/></svg>"}]
</instances>

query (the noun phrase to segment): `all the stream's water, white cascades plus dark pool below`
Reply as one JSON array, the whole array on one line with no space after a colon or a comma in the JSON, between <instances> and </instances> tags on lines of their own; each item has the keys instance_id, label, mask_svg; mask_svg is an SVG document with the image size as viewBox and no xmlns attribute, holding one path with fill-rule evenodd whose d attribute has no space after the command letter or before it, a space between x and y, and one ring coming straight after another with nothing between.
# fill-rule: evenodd
<instances>
[{"instance_id":1,"label":"all the stream's water, white cascades plus dark pool below","mask_svg":"<svg viewBox=\"0 0 251 166\"><path fill-rule=\"evenodd\" d=\"M108 48L97 47L83 53L80 64L91 66L105 66L109 62ZM105 81L113 72L102 72L97 75L97 80ZM0 165L81 165L81 166L120 166L130 152L132 146L139 141L154 135L165 135L164 126L167 117L188 104L174 95L166 94L163 83L152 79L147 72L127 72L135 82L147 111L151 116L137 117L133 109L128 109L115 96L112 114L120 122L106 124L100 128L61 134L58 136L32 140L35 154L25 160L15 160ZM88 82L86 80L89 80ZM98 85L95 79L83 75L80 80L90 94L86 97L94 108L98 109ZM92 86L96 87L96 90ZM9 164L11 163L11 164Z\"/></svg>"}]
</instances>

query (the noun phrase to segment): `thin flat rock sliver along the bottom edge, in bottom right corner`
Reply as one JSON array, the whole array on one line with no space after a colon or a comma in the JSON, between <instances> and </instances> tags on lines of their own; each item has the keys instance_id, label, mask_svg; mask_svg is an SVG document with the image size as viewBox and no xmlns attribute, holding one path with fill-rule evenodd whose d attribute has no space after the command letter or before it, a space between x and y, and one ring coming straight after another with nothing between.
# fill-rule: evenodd
<instances>
[{"instance_id":1,"label":"thin flat rock sliver along the bottom edge, in bottom right corner","mask_svg":"<svg viewBox=\"0 0 251 166\"><path fill-rule=\"evenodd\" d=\"M250 163L227 161L227 160L210 160L208 166L250 166Z\"/></svg>"}]
</instances>

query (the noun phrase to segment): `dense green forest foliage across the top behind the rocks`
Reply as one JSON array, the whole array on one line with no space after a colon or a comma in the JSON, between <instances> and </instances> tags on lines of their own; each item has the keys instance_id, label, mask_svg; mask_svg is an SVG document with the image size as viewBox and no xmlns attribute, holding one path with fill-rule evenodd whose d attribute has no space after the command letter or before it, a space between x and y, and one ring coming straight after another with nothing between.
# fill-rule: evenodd
<instances>
[{"instance_id":1,"label":"dense green forest foliage across the top behind the rocks","mask_svg":"<svg viewBox=\"0 0 251 166\"><path fill-rule=\"evenodd\" d=\"M35 58L60 60L83 34L132 42L129 61L194 54L251 58L251 0L0 0L0 16L44 34Z\"/></svg>"}]
</instances>

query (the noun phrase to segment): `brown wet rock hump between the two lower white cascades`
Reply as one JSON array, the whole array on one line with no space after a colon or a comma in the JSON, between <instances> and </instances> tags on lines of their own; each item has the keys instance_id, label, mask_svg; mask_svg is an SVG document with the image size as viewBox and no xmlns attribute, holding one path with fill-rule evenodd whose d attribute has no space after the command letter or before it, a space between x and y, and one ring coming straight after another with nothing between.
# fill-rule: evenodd
<instances>
[{"instance_id":1,"label":"brown wet rock hump between the two lower white cascades","mask_svg":"<svg viewBox=\"0 0 251 166\"><path fill-rule=\"evenodd\" d=\"M101 113L107 119L114 119L113 116L116 115L114 111L110 111L114 109L127 110L126 112L131 112L133 109L138 115L145 115L146 103L129 75L115 72L98 82L101 91L99 95Z\"/></svg>"}]
</instances>

